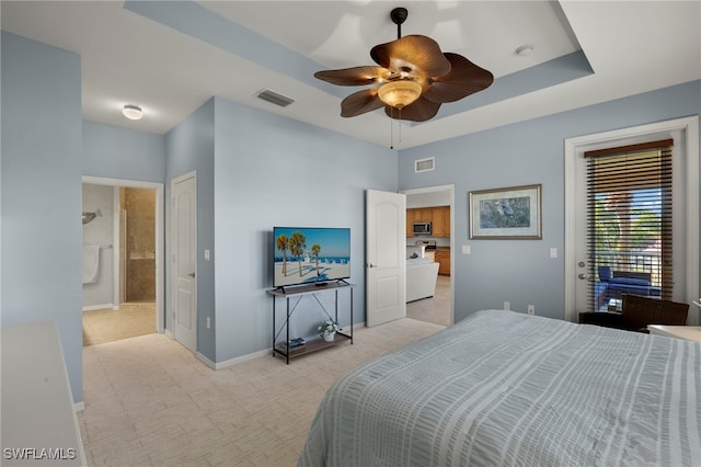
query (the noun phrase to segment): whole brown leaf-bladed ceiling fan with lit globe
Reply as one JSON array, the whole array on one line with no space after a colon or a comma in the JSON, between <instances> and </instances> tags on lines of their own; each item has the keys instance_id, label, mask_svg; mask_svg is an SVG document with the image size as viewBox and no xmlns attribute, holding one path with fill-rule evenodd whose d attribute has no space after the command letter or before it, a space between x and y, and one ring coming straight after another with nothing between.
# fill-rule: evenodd
<instances>
[{"instance_id":1,"label":"whole brown leaf-bladed ceiling fan with lit globe","mask_svg":"<svg viewBox=\"0 0 701 467\"><path fill-rule=\"evenodd\" d=\"M355 92L341 102L341 116L353 117L384 107L390 118L425 122L440 104L456 102L489 88L494 76L461 55L443 53L436 41L423 35L402 37L409 12L395 8L397 41L379 44L370 57L379 66L324 70L314 77L337 86L379 87Z\"/></svg>"}]
</instances>

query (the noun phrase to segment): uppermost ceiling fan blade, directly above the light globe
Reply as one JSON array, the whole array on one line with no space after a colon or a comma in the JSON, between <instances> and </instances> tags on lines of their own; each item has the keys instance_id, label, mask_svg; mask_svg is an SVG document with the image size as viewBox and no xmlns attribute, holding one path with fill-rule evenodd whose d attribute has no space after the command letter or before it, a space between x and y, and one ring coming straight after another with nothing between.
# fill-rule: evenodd
<instances>
[{"instance_id":1,"label":"uppermost ceiling fan blade, directly above the light globe","mask_svg":"<svg viewBox=\"0 0 701 467\"><path fill-rule=\"evenodd\" d=\"M370 50L370 57L392 72L405 71L423 82L428 77L443 76L450 71L450 61L440 52L438 43L422 35L409 35L376 45Z\"/></svg>"}]
</instances>

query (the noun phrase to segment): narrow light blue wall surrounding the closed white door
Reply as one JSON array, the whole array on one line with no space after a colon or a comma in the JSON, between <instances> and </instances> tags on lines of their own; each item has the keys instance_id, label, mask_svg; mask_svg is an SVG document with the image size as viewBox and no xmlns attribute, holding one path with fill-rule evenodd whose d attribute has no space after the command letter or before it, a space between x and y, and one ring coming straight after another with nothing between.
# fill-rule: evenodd
<instances>
[{"instance_id":1,"label":"narrow light blue wall surrounding the closed white door","mask_svg":"<svg viewBox=\"0 0 701 467\"><path fill-rule=\"evenodd\" d=\"M215 100L193 112L165 135L165 258L171 258L171 180L197 172L197 351L215 362L215 323L205 326L207 316L215 319L215 263L204 260L204 250L214 250L215 206ZM214 251L212 251L214 254ZM214 257L212 257L214 260ZM165 281L165 328L172 331L171 286Z\"/></svg>"}]
</instances>

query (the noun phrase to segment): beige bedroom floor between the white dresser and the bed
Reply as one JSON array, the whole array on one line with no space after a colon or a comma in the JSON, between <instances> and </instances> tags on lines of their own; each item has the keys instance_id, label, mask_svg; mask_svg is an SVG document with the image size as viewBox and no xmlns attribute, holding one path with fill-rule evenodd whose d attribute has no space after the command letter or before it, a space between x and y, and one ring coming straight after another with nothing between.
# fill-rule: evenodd
<instances>
[{"instance_id":1,"label":"beige bedroom floor between the white dresser and the bed","mask_svg":"<svg viewBox=\"0 0 701 467\"><path fill-rule=\"evenodd\" d=\"M404 318L295 358L210 369L163 334L83 350L90 466L295 466L326 389L389 350L444 329Z\"/></svg>"}]
</instances>

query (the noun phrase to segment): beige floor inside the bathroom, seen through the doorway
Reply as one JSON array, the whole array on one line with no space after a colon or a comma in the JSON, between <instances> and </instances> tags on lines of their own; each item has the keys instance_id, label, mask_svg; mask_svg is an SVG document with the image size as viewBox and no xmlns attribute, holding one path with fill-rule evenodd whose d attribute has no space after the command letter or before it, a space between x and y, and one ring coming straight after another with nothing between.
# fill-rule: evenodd
<instances>
[{"instance_id":1,"label":"beige floor inside the bathroom, seen through the doorway","mask_svg":"<svg viewBox=\"0 0 701 467\"><path fill-rule=\"evenodd\" d=\"M156 332L156 305L122 304L118 310L83 311L83 346Z\"/></svg>"}]
</instances>

